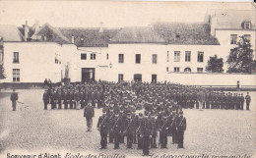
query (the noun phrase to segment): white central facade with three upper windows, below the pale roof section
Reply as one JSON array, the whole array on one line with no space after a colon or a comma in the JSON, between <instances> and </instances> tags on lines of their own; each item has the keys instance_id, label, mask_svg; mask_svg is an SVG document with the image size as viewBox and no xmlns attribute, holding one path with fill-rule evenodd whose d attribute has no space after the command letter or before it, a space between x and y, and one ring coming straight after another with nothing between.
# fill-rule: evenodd
<instances>
[{"instance_id":1,"label":"white central facade with three upper windows, below the pale roof section","mask_svg":"<svg viewBox=\"0 0 256 158\"><path fill-rule=\"evenodd\" d=\"M135 74L142 74L143 81L152 81L152 75L158 80L165 80L166 45L162 44L109 44L109 61L112 68L108 80L118 81L118 74L123 74L124 80L134 79ZM118 54L124 54L124 63L118 63ZM141 54L141 64L135 63L135 54ZM158 55L157 64L152 63L152 55Z\"/></svg>"}]
</instances>

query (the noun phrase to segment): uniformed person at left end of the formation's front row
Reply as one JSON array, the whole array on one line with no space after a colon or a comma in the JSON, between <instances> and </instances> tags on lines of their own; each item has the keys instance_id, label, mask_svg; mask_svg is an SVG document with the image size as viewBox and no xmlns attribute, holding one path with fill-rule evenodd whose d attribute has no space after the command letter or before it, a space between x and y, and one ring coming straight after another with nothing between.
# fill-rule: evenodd
<instances>
[{"instance_id":1,"label":"uniformed person at left end of the formation's front row","mask_svg":"<svg viewBox=\"0 0 256 158\"><path fill-rule=\"evenodd\" d=\"M96 125L96 128L100 132L100 136L101 136L100 149L106 149L108 122L109 122L109 118L106 116L106 111L105 109L102 109L102 116L98 118L97 125Z\"/></svg>"}]
</instances>

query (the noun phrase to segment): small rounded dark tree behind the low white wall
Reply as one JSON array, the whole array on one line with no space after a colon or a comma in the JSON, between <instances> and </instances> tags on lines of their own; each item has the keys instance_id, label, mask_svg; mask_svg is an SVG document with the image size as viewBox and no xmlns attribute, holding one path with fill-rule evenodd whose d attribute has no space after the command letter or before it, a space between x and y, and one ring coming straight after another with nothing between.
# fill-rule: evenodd
<instances>
[{"instance_id":1,"label":"small rounded dark tree behind the low white wall","mask_svg":"<svg viewBox=\"0 0 256 158\"><path fill-rule=\"evenodd\" d=\"M212 72L212 73L223 73L224 72L224 59L223 58L218 58L217 55L214 57L210 57L208 61L208 65L206 67L207 72Z\"/></svg>"}]
</instances>

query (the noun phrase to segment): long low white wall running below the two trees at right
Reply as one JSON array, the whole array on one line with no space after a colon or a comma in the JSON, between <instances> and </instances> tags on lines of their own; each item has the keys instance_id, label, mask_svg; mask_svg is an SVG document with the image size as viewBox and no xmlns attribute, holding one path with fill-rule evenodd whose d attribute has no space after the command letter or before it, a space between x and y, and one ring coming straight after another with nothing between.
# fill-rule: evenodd
<instances>
[{"instance_id":1,"label":"long low white wall running below the two trees at right","mask_svg":"<svg viewBox=\"0 0 256 158\"><path fill-rule=\"evenodd\" d=\"M211 73L169 73L166 80L187 85L211 86L236 86L237 80L240 87L256 86L256 74L211 74Z\"/></svg>"}]
</instances>

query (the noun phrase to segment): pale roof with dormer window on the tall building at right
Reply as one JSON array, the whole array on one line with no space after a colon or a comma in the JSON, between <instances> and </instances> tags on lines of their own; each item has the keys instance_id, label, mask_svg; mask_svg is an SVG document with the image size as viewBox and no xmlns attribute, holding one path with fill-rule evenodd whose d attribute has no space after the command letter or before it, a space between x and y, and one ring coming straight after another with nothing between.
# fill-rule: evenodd
<instances>
[{"instance_id":1,"label":"pale roof with dormer window on the tall building at right","mask_svg":"<svg viewBox=\"0 0 256 158\"><path fill-rule=\"evenodd\" d=\"M242 23L250 22L251 28L256 28L256 12L252 10L216 10L216 28L242 28Z\"/></svg>"}]
</instances>

